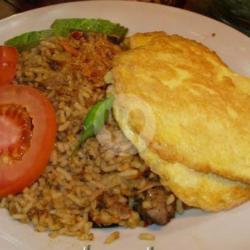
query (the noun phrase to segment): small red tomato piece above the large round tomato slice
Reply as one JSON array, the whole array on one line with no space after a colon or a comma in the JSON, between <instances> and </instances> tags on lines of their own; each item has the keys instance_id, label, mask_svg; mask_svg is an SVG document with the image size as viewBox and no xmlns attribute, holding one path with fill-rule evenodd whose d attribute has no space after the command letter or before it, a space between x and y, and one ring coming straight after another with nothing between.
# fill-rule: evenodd
<instances>
[{"instance_id":1,"label":"small red tomato piece above the large round tomato slice","mask_svg":"<svg viewBox=\"0 0 250 250\"><path fill-rule=\"evenodd\" d=\"M0 45L0 85L8 84L13 80L17 61L16 48Z\"/></svg>"}]
</instances>

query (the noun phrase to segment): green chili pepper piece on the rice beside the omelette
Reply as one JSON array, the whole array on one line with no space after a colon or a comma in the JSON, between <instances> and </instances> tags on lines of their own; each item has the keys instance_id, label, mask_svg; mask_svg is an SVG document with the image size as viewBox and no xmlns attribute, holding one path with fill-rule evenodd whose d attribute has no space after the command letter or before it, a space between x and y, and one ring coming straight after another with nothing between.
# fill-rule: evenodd
<instances>
[{"instance_id":1,"label":"green chili pepper piece on the rice beside the omelette","mask_svg":"<svg viewBox=\"0 0 250 250\"><path fill-rule=\"evenodd\" d=\"M102 101L98 101L88 112L83 121L82 131L78 143L75 146L73 154L90 137L95 136L103 128L108 119L109 111L113 105L114 97L109 96Z\"/></svg>"}]
</instances>

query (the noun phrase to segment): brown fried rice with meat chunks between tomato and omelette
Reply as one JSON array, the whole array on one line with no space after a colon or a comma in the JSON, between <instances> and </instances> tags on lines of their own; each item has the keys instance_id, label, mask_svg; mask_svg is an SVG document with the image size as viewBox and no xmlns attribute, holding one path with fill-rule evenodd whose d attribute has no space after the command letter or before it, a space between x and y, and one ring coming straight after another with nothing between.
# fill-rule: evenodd
<instances>
[{"instance_id":1,"label":"brown fried rice with meat chunks between tomato and omelette","mask_svg":"<svg viewBox=\"0 0 250 250\"><path fill-rule=\"evenodd\" d=\"M41 90L53 104L57 137L42 176L17 195L1 198L10 215L51 237L94 238L93 227L166 224L181 202L163 188L112 114L102 131L72 155L84 117L108 84L104 75L123 48L100 34L74 32L24 51L16 84ZM164 218L163 218L164 217Z\"/></svg>"}]
</instances>

